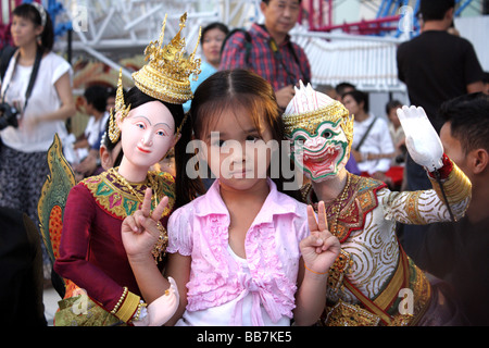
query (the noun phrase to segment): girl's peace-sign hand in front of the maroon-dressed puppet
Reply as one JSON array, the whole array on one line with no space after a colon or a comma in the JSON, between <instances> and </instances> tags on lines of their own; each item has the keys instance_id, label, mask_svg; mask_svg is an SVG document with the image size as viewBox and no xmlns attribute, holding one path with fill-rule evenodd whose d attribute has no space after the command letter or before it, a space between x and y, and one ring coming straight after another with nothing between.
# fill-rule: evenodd
<instances>
[{"instance_id":1,"label":"girl's peace-sign hand in front of the maroon-dressed puppet","mask_svg":"<svg viewBox=\"0 0 489 348\"><path fill-rule=\"evenodd\" d=\"M124 219L122 224L122 239L127 257L133 261L151 258L151 250L160 236L156 224L163 214L168 198L165 196L151 212L151 188L145 192L141 209Z\"/></svg>"}]
</instances>

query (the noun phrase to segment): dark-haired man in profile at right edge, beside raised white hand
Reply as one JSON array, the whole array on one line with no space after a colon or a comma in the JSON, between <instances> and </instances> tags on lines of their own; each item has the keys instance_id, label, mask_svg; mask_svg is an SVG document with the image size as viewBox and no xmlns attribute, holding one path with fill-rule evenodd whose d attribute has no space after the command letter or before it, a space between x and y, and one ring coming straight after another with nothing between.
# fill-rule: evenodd
<instances>
[{"instance_id":1,"label":"dark-haired man in profile at right edge, beside raised white hand","mask_svg":"<svg viewBox=\"0 0 489 348\"><path fill-rule=\"evenodd\" d=\"M489 96L443 103L440 138L450 159L472 182L472 200L459 222L429 226L416 264L447 281L472 325L489 325Z\"/></svg>"}]
</instances>

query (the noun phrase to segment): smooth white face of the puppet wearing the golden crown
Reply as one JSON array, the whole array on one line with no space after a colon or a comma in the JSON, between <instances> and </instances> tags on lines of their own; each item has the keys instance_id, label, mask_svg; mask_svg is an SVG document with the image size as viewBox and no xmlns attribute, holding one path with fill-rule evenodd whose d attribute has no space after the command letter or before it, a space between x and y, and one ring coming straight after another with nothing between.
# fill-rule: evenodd
<instances>
[{"instance_id":1,"label":"smooth white face of the puppet wearing the golden crown","mask_svg":"<svg viewBox=\"0 0 489 348\"><path fill-rule=\"evenodd\" d=\"M129 111L117 125L124 160L134 167L150 167L159 162L175 142L175 122L160 101L150 101Z\"/></svg>"}]
</instances>

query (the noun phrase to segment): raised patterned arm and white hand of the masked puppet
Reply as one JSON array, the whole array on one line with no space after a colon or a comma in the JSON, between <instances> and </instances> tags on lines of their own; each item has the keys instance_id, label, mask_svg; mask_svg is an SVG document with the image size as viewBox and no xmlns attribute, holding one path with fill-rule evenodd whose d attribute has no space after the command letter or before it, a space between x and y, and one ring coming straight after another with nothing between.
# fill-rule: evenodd
<instances>
[{"instance_id":1,"label":"raised patterned arm and white hand of the masked puppet","mask_svg":"<svg viewBox=\"0 0 489 348\"><path fill-rule=\"evenodd\" d=\"M440 138L422 108L403 107L398 116L408 150L426 169L432 189L385 194L387 215L406 224L459 220L471 201L471 181L443 153Z\"/></svg>"}]
</instances>

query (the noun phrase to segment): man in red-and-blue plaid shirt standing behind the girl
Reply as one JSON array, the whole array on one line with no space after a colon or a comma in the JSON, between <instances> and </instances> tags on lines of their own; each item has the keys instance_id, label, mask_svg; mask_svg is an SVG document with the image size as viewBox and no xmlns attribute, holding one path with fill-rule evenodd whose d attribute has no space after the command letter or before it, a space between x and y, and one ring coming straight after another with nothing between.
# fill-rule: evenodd
<instances>
[{"instance_id":1,"label":"man in red-and-blue plaid shirt standing behind the girl","mask_svg":"<svg viewBox=\"0 0 489 348\"><path fill-rule=\"evenodd\" d=\"M250 69L275 90L277 103L287 108L293 86L311 82L311 66L304 51L290 40L289 32L299 18L301 0L262 0L265 23L233 34L223 47L220 70Z\"/></svg>"}]
</instances>

